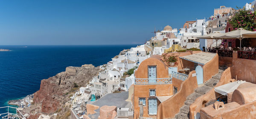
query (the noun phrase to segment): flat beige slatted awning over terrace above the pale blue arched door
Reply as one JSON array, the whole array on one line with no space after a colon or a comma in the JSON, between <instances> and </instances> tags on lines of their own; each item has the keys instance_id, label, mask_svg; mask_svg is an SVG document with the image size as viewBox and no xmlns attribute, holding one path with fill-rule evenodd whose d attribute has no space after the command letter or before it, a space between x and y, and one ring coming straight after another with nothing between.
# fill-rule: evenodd
<instances>
[{"instance_id":1,"label":"flat beige slatted awning over terrace above the pale blue arched door","mask_svg":"<svg viewBox=\"0 0 256 119\"><path fill-rule=\"evenodd\" d=\"M180 58L204 65L207 62L211 61L215 55L216 55L216 53L200 52L197 54L186 55L186 56L183 56Z\"/></svg>"}]
</instances>

